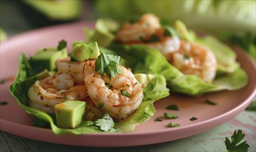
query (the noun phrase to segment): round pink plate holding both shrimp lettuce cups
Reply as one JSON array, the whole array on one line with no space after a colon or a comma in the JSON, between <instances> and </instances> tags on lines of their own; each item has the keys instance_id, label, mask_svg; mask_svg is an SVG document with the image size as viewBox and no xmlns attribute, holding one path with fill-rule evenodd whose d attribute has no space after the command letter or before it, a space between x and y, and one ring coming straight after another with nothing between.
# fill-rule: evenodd
<instances>
[{"instance_id":1,"label":"round pink plate holding both shrimp lettuce cups","mask_svg":"<svg viewBox=\"0 0 256 152\"><path fill-rule=\"evenodd\" d=\"M17 73L18 55L20 52L26 55L34 55L39 48L52 47L58 41L68 41L69 49L71 42L84 40L83 27L93 27L93 22L69 23L61 26L53 26L25 32L11 37L1 43L1 79L15 77ZM50 129L42 129L32 126L31 115L25 113L22 108L12 99L8 87L12 80L1 84L1 102L8 102L0 106L1 131L14 135L27 137L33 140L68 144L74 146L136 146L155 144L178 140L212 129L244 111L255 97L255 62L252 61L239 48L234 48L241 67L249 76L249 83L245 88L237 91L220 91L209 93L200 97L185 97L173 95L155 103L156 113L151 120L137 126L132 133L88 133L85 135L55 135ZM205 97L217 102L215 106L205 104ZM170 104L179 106L180 111L166 110ZM175 113L179 117L176 120L166 120L163 113ZM162 117L162 122L155 122L156 117ZM191 117L198 120L190 121ZM169 122L179 123L180 127L168 128Z\"/></svg>"}]
</instances>

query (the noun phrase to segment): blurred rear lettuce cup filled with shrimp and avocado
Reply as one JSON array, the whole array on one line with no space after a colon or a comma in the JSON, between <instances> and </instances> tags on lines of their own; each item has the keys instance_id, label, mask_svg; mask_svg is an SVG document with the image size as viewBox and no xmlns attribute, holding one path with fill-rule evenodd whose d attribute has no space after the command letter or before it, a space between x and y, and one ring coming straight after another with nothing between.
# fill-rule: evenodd
<instances>
[{"instance_id":1,"label":"blurred rear lettuce cup filled with shrimp and avocado","mask_svg":"<svg viewBox=\"0 0 256 152\"><path fill-rule=\"evenodd\" d=\"M85 32L88 41L94 37L88 33L101 30L105 20L108 26L103 30L111 32L115 39L104 46L103 52L121 56L122 64L133 73L163 75L173 93L202 95L236 90L248 83L248 75L230 47L206 33L196 35L182 21L171 26L150 13L123 23L102 18L100 23L96 21L96 29ZM110 21L119 26L108 30Z\"/></svg>"}]
</instances>

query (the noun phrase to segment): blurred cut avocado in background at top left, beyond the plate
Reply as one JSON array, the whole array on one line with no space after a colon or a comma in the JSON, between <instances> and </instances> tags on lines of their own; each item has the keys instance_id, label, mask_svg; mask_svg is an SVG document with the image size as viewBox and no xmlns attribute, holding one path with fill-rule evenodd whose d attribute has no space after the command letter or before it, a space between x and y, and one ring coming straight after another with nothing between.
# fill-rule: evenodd
<instances>
[{"instance_id":1,"label":"blurred cut avocado in background at top left, beyond the plate","mask_svg":"<svg viewBox=\"0 0 256 152\"><path fill-rule=\"evenodd\" d=\"M24 0L24 3L52 20L68 21L78 19L83 10L83 1Z\"/></svg>"}]
</instances>

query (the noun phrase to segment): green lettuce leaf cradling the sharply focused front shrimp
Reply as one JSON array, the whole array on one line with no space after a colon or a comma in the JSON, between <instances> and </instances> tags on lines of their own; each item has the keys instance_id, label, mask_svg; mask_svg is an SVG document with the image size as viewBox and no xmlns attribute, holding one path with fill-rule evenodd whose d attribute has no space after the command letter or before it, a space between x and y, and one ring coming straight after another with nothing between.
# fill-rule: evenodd
<instances>
[{"instance_id":1,"label":"green lettuce leaf cradling the sharply focused front shrimp","mask_svg":"<svg viewBox=\"0 0 256 152\"><path fill-rule=\"evenodd\" d=\"M19 69L15 82L10 86L11 95L16 100L17 104L26 111L26 113L35 117L33 120L36 126L51 127L53 133L56 134L75 134L81 135L85 133L108 133L108 132L130 132L134 131L135 127L143 122L146 122L155 113L153 102L156 102L163 97L169 95L169 88L166 87L166 79L162 75L151 75L150 82L143 89L144 98L142 104L137 110L128 115L124 120L114 122L112 118L105 114L102 118L92 122L83 120L74 129L62 129L56 123L56 115L45 113L44 111L32 108L28 104L28 89L36 80L43 77L48 77L49 72L53 71L42 70L38 71L35 66L31 65L30 57L24 53L19 55Z\"/></svg>"}]
</instances>

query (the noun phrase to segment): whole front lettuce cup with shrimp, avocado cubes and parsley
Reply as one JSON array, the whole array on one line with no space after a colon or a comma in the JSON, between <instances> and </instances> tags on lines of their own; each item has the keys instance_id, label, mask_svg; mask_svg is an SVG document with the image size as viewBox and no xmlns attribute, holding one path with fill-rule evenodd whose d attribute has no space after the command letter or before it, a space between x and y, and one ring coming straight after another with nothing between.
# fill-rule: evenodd
<instances>
[{"instance_id":1,"label":"whole front lettuce cup with shrimp, avocado cubes and parsley","mask_svg":"<svg viewBox=\"0 0 256 152\"><path fill-rule=\"evenodd\" d=\"M137 74L146 78L139 82L119 65L121 57L102 53L95 41L76 44L68 56L66 45L62 40L56 48L35 53L54 63L44 70L41 58L21 53L10 86L19 106L56 134L133 131L155 113L153 102L169 95L162 75ZM54 57L58 53L65 55Z\"/></svg>"}]
</instances>

